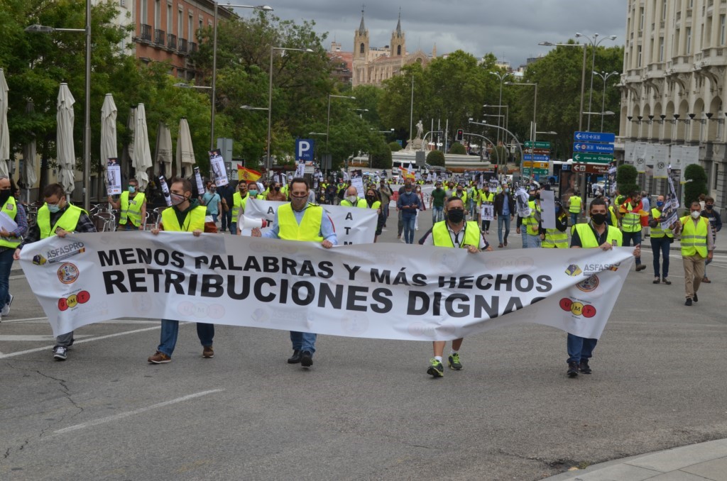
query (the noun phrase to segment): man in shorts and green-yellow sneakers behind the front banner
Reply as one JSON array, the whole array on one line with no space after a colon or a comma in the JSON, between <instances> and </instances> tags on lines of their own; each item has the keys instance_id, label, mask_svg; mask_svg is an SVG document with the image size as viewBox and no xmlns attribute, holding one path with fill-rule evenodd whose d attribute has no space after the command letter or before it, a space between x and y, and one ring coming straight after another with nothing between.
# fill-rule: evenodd
<instances>
[{"instance_id":1,"label":"man in shorts and green-yellow sneakers behind the front banner","mask_svg":"<svg viewBox=\"0 0 727 481\"><path fill-rule=\"evenodd\" d=\"M465 203L459 197L450 197L444 203L444 218L437 222L419 241L422 246L437 246L449 248L466 248L470 254L480 251L492 251L492 247L482 235L477 222L465 222ZM448 358L449 368L454 371L462 370L462 361L459 359L459 349L462 347L462 338L452 341L452 349ZM430 359L427 374L435 378L444 376L442 356L446 341L433 341L434 357Z\"/></svg>"}]
</instances>

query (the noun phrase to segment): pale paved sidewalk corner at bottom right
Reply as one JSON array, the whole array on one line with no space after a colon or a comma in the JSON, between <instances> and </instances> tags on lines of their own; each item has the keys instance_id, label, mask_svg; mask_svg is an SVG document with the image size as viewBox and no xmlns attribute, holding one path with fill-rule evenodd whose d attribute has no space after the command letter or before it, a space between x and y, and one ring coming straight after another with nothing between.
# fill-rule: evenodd
<instances>
[{"instance_id":1,"label":"pale paved sidewalk corner at bottom right","mask_svg":"<svg viewBox=\"0 0 727 481\"><path fill-rule=\"evenodd\" d=\"M727 439L633 456L546 478L550 481L727 481Z\"/></svg>"}]
</instances>

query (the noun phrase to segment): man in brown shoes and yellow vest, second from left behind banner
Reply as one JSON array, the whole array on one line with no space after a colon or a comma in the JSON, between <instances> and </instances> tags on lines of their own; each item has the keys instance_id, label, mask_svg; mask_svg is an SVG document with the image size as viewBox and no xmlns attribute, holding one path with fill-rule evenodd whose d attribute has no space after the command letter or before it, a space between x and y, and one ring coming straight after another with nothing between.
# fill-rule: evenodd
<instances>
[{"instance_id":1,"label":"man in brown shoes and yellow vest, second from left behind banner","mask_svg":"<svg viewBox=\"0 0 727 481\"><path fill-rule=\"evenodd\" d=\"M192 198L192 183L188 179L172 179L172 183L169 185L169 195L172 198L172 206L161 211L161 224L159 225L161 230L192 233L195 237L208 231L204 222L207 208L199 205L196 198ZM153 229L151 233L158 235L159 230L159 228ZM214 232L217 230L215 229ZM156 352L149 356L149 363L164 364L172 361L172 352L177 345L179 330L178 320L161 320L159 346L156 348ZM197 336L202 344L202 357L205 359L214 357L214 349L212 349L214 324L197 323Z\"/></svg>"}]
</instances>

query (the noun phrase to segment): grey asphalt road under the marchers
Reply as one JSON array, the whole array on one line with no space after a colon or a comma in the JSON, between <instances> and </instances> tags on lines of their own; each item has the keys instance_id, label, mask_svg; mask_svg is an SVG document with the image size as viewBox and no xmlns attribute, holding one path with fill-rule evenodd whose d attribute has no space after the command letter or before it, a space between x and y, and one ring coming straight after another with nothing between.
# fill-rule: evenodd
<instances>
[{"instance_id":1,"label":"grey asphalt road under the marchers","mask_svg":"<svg viewBox=\"0 0 727 481\"><path fill-rule=\"evenodd\" d=\"M418 234L430 211L421 220ZM379 241L397 242L395 227ZM205 360L190 324L173 362L149 365L159 323L132 319L79 329L56 362L44 312L13 275L0 479L537 480L727 437L727 255L693 307L676 252L671 270L671 286L653 285L651 267L630 273L593 374L577 379L566 335L536 325L466 339L465 370L443 379L425 373L426 342L320 336L304 371L285 362L284 331L218 326Z\"/></svg>"}]
</instances>

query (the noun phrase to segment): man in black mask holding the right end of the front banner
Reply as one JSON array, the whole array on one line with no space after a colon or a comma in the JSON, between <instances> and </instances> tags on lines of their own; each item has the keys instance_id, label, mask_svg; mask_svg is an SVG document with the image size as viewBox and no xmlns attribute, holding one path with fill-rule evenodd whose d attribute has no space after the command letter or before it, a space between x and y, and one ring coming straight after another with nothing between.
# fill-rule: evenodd
<instances>
[{"instance_id":1,"label":"man in black mask holding the right end of the front banner","mask_svg":"<svg viewBox=\"0 0 727 481\"><path fill-rule=\"evenodd\" d=\"M608 225L608 209L603 198L595 198L590 204L590 222L573 226L571 233L571 248L600 248L604 251L622 246L622 234L616 227ZM641 246L634 247L633 255L641 255ZM598 339L568 334L568 371L569 377L576 377L578 373L590 374L588 361L593 356L593 349Z\"/></svg>"}]
</instances>

